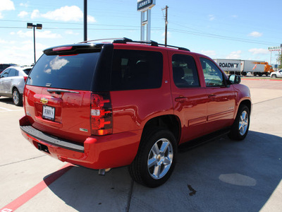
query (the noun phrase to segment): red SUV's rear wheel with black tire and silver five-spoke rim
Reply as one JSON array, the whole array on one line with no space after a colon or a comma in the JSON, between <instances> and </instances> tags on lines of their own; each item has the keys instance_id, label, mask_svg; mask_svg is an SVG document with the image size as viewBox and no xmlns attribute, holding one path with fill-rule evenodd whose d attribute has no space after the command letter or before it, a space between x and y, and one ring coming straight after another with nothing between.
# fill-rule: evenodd
<instances>
[{"instance_id":1,"label":"red SUV's rear wheel with black tire and silver five-spoke rim","mask_svg":"<svg viewBox=\"0 0 282 212\"><path fill-rule=\"evenodd\" d=\"M149 131L142 138L133 163L128 166L130 176L146 187L159 187L171 177L176 165L176 154L176 139L171 131Z\"/></svg>"}]
</instances>

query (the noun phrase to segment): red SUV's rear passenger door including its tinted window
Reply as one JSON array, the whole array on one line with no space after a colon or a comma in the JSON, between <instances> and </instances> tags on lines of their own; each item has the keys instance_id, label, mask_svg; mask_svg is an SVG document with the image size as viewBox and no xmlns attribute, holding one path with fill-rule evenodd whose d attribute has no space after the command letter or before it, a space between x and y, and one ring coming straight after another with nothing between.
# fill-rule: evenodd
<instances>
[{"instance_id":1,"label":"red SUV's rear passenger door including its tinted window","mask_svg":"<svg viewBox=\"0 0 282 212\"><path fill-rule=\"evenodd\" d=\"M207 95L201 85L195 58L189 54L170 54L171 94L174 114L181 122L180 143L204 134L207 120Z\"/></svg>"}]
</instances>

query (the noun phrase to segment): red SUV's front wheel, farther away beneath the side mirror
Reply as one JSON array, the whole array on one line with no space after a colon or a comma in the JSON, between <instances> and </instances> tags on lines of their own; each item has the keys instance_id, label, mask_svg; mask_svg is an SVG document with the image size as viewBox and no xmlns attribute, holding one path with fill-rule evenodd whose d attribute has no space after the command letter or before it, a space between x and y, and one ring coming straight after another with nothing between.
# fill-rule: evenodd
<instances>
[{"instance_id":1,"label":"red SUV's front wheel, farther away beneath the side mirror","mask_svg":"<svg viewBox=\"0 0 282 212\"><path fill-rule=\"evenodd\" d=\"M230 139L242 141L247 136L250 126L250 110L246 105L239 107L235 121L228 134Z\"/></svg>"}]
</instances>

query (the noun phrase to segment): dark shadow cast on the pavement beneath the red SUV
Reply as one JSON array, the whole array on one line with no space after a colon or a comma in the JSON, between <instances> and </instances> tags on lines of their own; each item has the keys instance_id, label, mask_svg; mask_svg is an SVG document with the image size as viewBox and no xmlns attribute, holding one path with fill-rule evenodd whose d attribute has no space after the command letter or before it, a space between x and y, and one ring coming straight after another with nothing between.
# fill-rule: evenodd
<instances>
[{"instance_id":1,"label":"dark shadow cast on the pavement beneath the red SUV","mask_svg":"<svg viewBox=\"0 0 282 212\"><path fill-rule=\"evenodd\" d=\"M281 182L282 138L249 131L179 153L171 179L149 189L133 184L126 167L98 176L73 167L49 186L77 211L259 211Z\"/></svg>"}]
</instances>

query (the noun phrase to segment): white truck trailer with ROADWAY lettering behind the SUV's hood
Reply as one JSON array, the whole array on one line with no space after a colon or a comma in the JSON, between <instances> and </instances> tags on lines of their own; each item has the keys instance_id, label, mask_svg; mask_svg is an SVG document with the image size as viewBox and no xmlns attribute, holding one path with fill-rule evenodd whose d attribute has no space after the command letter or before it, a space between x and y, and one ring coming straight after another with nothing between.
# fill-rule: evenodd
<instances>
[{"instance_id":1,"label":"white truck trailer with ROADWAY lettering behind the SUV's hood","mask_svg":"<svg viewBox=\"0 0 282 212\"><path fill-rule=\"evenodd\" d=\"M216 64L225 71L227 74L238 74L241 72L241 60L240 59L214 59Z\"/></svg>"}]
</instances>

